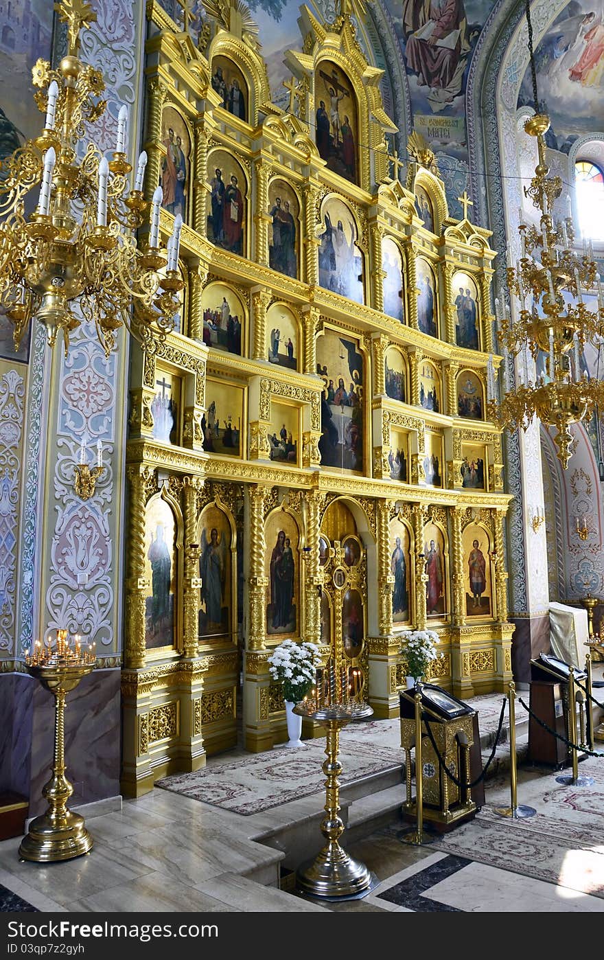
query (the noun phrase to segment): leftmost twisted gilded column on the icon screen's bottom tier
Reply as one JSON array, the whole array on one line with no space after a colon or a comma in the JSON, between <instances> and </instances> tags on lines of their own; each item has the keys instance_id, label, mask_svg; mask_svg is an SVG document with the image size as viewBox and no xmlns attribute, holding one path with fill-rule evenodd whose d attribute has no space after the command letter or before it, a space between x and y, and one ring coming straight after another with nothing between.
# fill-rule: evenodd
<instances>
[{"instance_id":1,"label":"leftmost twisted gilded column on the icon screen's bottom tier","mask_svg":"<svg viewBox=\"0 0 604 960\"><path fill-rule=\"evenodd\" d=\"M151 474L152 470L148 467L136 466L127 470L130 522L124 665L133 669L145 665L145 597L150 586L145 576L145 502Z\"/></svg>"}]
</instances>

